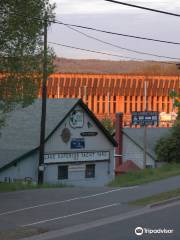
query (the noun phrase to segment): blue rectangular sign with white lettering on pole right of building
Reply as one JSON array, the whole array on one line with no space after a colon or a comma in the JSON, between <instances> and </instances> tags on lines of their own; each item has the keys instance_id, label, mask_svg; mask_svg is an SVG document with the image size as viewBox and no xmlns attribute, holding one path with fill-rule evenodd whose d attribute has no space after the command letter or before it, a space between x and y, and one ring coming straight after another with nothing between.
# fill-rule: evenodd
<instances>
[{"instance_id":1,"label":"blue rectangular sign with white lettering on pole right of building","mask_svg":"<svg viewBox=\"0 0 180 240\"><path fill-rule=\"evenodd\" d=\"M133 125L157 125L158 123L158 112L132 112Z\"/></svg>"}]
</instances>

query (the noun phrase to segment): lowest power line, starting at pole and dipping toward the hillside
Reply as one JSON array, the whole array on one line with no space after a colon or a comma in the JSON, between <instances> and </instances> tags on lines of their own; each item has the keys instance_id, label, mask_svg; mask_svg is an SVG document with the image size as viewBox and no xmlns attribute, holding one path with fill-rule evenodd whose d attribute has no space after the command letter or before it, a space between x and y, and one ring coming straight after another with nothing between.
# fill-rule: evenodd
<instances>
[{"instance_id":1,"label":"lowest power line, starting at pole and dipping toward the hillside","mask_svg":"<svg viewBox=\"0 0 180 240\"><path fill-rule=\"evenodd\" d=\"M95 51L95 50L90 50L90 49L86 49L86 48L70 46L70 45L66 45L66 44L62 44L62 43L56 43L56 42L50 42L50 41L48 41L48 43L53 44L53 45L57 45L57 46L66 47L66 48L71 48L71 49L76 49L76 50L81 50L81 51L86 51L86 52L91 52L91 53L98 53L98 54L112 56L112 57L125 58L125 59L136 60L136 61L147 61L147 60L141 59L141 58L133 58L133 57L127 57L127 56L118 55L118 54ZM155 60L148 60L148 61L157 62L157 63L165 63L165 64L176 64L175 62L162 62L162 61L155 61Z\"/></svg>"}]
</instances>

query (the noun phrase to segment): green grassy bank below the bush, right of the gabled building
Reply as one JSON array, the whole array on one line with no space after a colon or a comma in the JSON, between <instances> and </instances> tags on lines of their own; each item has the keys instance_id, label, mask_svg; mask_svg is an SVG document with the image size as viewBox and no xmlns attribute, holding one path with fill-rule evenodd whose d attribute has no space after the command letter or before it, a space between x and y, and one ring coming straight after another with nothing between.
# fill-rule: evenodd
<instances>
[{"instance_id":1,"label":"green grassy bank below the bush, right of the gabled building","mask_svg":"<svg viewBox=\"0 0 180 240\"><path fill-rule=\"evenodd\" d=\"M180 175L180 164L172 163L165 164L160 168L144 169L134 172L129 172L115 177L108 184L110 187L125 187L134 186L152 181L165 179L168 177Z\"/></svg>"}]
</instances>

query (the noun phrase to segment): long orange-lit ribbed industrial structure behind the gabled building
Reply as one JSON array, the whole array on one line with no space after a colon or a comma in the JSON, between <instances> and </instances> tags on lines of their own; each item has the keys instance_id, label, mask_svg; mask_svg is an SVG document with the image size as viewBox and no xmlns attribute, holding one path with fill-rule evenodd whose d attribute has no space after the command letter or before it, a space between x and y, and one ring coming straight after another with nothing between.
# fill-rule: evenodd
<instances>
[{"instance_id":1,"label":"long orange-lit ribbed industrial structure behind the gabled building","mask_svg":"<svg viewBox=\"0 0 180 240\"><path fill-rule=\"evenodd\" d=\"M177 75L55 73L47 82L49 98L82 98L100 119L109 116L114 120L116 112L123 112L124 126L131 125L131 112L144 111L145 104L148 111L173 112L172 90L180 93Z\"/></svg>"}]
</instances>

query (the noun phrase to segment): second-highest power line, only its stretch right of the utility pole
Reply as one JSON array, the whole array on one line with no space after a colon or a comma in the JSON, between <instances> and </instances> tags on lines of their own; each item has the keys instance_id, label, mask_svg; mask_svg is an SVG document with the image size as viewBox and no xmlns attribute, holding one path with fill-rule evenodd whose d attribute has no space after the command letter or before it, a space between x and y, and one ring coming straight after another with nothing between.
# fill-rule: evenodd
<instances>
[{"instance_id":1,"label":"second-highest power line, only its stretch right of the utility pole","mask_svg":"<svg viewBox=\"0 0 180 240\"><path fill-rule=\"evenodd\" d=\"M122 36L122 37L129 37L129 38L136 38L136 39L153 41L153 42L160 42L160 43L180 45L180 42L166 41L166 40L160 40L160 39L155 39L155 38L147 38L147 37L141 37L141 36L136 36L136 35L124 34L124 33L117 33L117 32L112 32L112 31L97 29L97 28L93 28L93 27L87 27L87 26L82 26L82 25L64 23L64 22L57 21L57 20L54 21L54 23L61 24L61 25L64 25L64 26L70 26L70 27L76 27L76 28L82 28L82 29L92 30L92 31L96 31L96 32L107 33L107 34L111 34L111 35Z\"/></svg>"}]
</instances>

